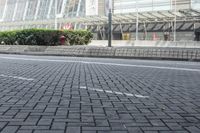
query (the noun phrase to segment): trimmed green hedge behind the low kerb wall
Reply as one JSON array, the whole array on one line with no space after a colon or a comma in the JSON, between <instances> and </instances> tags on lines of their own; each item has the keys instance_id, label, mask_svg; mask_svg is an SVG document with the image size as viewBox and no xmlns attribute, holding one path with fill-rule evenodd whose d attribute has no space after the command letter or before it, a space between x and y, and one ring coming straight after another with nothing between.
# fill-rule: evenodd
<instances>
[{"instance_id":1,"label":"trimmed green hedge behind the low kerb wall","mask_svg":"<svg viewBox=\"0 0 200 133\"><path fill-rule=\"evenodd\" d=\"M89 31L60 31L47 29L25 29L0 32L0 43L5 45L60 45L60 37L65 36L70 45L86 45L93 35Z\"/></svg>"}]
</instances>

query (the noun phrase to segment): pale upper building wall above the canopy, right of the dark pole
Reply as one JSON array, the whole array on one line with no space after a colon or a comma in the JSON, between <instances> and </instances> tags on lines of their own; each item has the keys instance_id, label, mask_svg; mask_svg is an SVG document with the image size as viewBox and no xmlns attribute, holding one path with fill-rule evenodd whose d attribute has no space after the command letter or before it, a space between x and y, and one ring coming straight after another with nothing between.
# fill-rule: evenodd
<instances>
[{"instance_id":1,"label":"pale upper building wall above the canopy, right of the dark pole","mask_svg":"<svg viewBox=\"0 0 200 133\"><path fill-rule=\"evenodd\" d=\"M114 13L145 11L200 9L200 0L114 0Z\"/></svg>"}]
</instances>

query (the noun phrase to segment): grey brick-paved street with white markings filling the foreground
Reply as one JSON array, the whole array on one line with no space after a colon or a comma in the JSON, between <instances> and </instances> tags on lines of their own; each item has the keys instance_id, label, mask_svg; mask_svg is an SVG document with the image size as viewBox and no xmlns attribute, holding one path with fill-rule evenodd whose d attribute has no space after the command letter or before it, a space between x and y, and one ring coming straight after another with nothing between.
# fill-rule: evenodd
<instances>
[{"instance_id":1,"label":"grey brick-paved street with white markings filling the foreground","mask_svg":"<svg viewBox=\"0 0 200 133\"><path fill-rule=\"evenodd\" d=\"M0 55L1 133L200 133L200 63Z\"/></svg>"}]
</instances>

